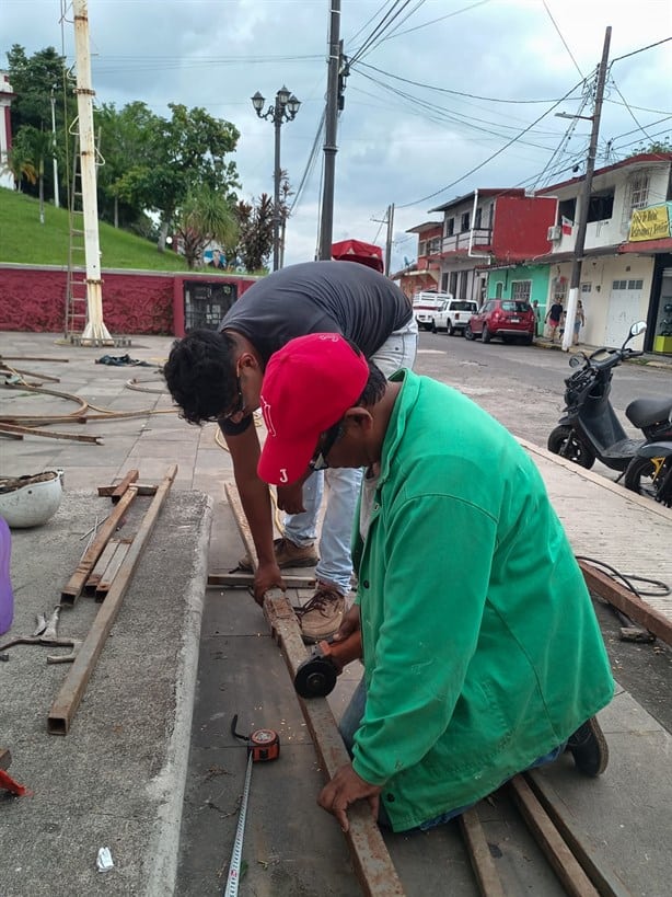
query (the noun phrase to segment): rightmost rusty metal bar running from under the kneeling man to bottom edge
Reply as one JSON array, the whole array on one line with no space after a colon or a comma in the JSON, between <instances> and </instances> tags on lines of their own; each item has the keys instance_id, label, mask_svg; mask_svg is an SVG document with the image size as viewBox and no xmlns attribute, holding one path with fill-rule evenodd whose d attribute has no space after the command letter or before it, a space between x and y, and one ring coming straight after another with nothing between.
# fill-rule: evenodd
<instances>
[{"instance_id":1,"label":"rightmost rusty metal bar running from under the kneeling man to bottom edge","mask_svg":"<svg viewBox=\"0 0 672 897\"><path fill-rule=\"evenodd\" d=\"M583 871L598 889L600 897L632 897L632 893L598 855L595 846L583 832L577 831L576 820L569 818L567 806L552 785L536 770L524 773L524 779L540 804L551 817Z\"/></svg>"}]
</instances>

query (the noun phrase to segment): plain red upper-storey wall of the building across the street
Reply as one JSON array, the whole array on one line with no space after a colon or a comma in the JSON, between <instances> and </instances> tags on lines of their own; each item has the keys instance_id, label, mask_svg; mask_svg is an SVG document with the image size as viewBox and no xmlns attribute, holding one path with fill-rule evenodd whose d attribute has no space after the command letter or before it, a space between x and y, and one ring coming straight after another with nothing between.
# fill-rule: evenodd
<instances>
[{"instance_id":1,"label":"plain red upper-storey wall of the building across the street","mask_svg":"<svg viewBox=\"0 0 672 897\"><path fill-rule=\"evenodd\" d=\"M497 197L493 227L495 257L515 262L551 252L547 231L555 225L556 208L555 197Z\"/></svg>"}]
</instances>

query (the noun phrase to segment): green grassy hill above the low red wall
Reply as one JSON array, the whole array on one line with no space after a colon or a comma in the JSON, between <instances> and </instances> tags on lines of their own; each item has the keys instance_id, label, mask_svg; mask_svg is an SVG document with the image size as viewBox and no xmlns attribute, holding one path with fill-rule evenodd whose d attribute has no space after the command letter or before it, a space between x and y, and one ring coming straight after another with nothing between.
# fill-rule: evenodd
<instances>
[{"instance_id":1,"label":"green grassy hill above the low red wall","mask_svg":"<svg viewBox=\"0 0 672 897\"><path fill-rule=\"evenodd\" d=\"M39 202L0 187L0 262L25 265L67 265L68 210L45 203L39 223ZM154 243L111 225L100 226L101 266L140 271L186 271L184 258L157 252Z\"/></svg>"}]
</instances>

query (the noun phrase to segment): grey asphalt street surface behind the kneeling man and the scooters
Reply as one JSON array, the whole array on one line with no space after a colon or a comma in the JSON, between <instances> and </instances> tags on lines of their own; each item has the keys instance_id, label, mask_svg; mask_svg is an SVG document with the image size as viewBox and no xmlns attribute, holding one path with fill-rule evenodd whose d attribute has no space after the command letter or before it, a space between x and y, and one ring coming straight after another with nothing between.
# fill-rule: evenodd
<instances>
[{"instance_id":1,"label":"grey asphalt street surface behind the kneeling man and the scooters","mask_svg":"<svg viewBox=\"0 0 672 897\"><path fill-rule=\"evenodd\" d=\"M445 333L421 333L416 370L474 399L515 436L546 446L565 403L569 355L541 346L483 345ZM634 399L672 399L672 368L628 363L614 370L612 403L629 436L637 437L625 409ZM615 473L595 465L611 479Z\"/></svg>"}]
</instances>

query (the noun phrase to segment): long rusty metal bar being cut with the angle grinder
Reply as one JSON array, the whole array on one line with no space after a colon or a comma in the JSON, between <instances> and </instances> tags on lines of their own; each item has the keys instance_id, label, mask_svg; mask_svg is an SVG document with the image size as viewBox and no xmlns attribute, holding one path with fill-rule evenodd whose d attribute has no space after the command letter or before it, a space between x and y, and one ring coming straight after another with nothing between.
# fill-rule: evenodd
<instances>
[{"instance_id":1,"label":"long rusty metal bar being cut with the angle grinder","mask_svg":"<svg viewBox=\"0 0 672 897\"><path fill-rule=\"evenodd\" d=\"M243 540L245 550L256 563L256 553L250 527L233 484L224 485L229 505ZM291 681L297 675L299 664L308 657L308 649L301 637L297 616L285 594L274 589L266 594L264 613L278 640L287 663ZM339 767L349 761L336 721L325 698L304 701L297 694L303 717L311 733L322 768L331 778ZM349 831L345 835L350 849L355 872L366 897L403 897L404 888L396 874L394 864L380 829L371 817L368 804L359 803L348 809Z\"/></svg>"}]
</instances>

